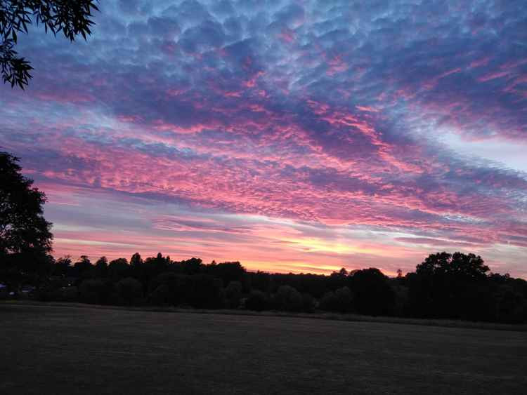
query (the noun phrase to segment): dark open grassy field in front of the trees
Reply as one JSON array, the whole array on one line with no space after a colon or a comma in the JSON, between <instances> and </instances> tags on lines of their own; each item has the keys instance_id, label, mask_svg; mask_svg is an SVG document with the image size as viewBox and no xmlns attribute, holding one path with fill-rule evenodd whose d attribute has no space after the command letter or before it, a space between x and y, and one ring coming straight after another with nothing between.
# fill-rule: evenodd
<instances>
[{"instance_id":1,"label":"dark open grassy field in front of the trees","mask_svg":"<svg viewBox=\"0 0 527 395\"><path fill-rule=\"evenodd\" d=\"M0 304L0 394L526 394L527 333Z\"/></svg>"}]
</instances>

